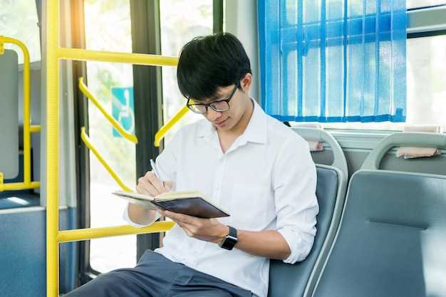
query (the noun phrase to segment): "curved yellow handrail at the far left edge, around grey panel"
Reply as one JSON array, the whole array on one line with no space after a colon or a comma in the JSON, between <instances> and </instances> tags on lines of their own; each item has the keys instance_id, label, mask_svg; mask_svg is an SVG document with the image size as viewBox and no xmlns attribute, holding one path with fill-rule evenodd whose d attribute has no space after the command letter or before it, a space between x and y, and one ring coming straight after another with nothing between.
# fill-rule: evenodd
<instances>
[{"instance_id":1,"label":"curved yellow handrail at the far left edge, around grey panel","mask_svg":"<svg viewBox=\"0 0 446 297\"><path fill-rule=\"evenodd\" d=\"M21 41L0 36L0 55L4 53L4 43L12 43L21 48L24 53L24 182L14 182L4 184L3 173L0 172L0 192L19 189L36 189L40 187L40 182L31 182L31 132L39 132L40 126L31 126L29 113L31 106L30 99L30 66L28 48Z\"/></svg>"}]
</instances>

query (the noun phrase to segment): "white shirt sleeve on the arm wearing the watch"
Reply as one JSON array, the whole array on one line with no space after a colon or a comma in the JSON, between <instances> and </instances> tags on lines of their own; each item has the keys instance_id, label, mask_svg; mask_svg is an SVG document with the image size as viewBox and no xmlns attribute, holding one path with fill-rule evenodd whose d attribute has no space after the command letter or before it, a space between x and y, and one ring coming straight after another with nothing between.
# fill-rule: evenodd
<instances>
[{"instance_id":1,"label":"white shirt sleeve on the arm wearing the watch","mask_svg":"<svg viewBox=\"0 0 446 297\"><path fill-rule=\"evenodd\" d=\"M294 136L294 135L293 135ZM316 166L307 142L299 135L290 137L281 148L273 170L276 228L289 245L285 263L303 261L316 235Z\"/></svg>"}]
</instances>

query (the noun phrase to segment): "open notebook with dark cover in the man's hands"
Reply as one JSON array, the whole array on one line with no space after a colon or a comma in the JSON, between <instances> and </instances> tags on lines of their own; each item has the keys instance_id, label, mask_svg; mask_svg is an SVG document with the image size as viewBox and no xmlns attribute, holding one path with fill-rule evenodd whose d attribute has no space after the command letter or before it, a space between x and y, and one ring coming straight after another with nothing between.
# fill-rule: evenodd
<instances>
[{"instance_id":1,"label":"open notebook with dark cover in the man's hands","mask_svg":"<svg viewBox=\"0 0 446 297\"><path fill-rule=\"evenodd\" d=\"M199 218L229 217L229 213L197 191L167 192L150 197L145 194L116 191L112 194L148 209L164 209Z\"/></svg>"}]
</instances>

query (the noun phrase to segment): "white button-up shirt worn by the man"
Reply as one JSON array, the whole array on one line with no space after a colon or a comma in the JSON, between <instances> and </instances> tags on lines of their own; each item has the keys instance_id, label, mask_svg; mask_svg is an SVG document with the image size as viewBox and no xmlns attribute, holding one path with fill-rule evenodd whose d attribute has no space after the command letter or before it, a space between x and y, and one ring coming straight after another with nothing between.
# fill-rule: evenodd
<instances>
[{"instance_id":1,"label":"white button-up shirt worn by the man","mask_svg":"<svg viewBox=\"0 0 446 297\"><path fill-rule=\"evenodd\" d=\"M253 100L254 101L254 100ZM207 120L186 125L157 157L175 190L199 190L229 211L218 219L239 230L277 230L289 244L286 263L306 258L316 234L316 167L307 142L254 102L247 129L226 153ZM130 221L128 211L124 217ZM269 259L194 239L175 225L156 252L266 297Z\"/></svg>"}]
</instances>

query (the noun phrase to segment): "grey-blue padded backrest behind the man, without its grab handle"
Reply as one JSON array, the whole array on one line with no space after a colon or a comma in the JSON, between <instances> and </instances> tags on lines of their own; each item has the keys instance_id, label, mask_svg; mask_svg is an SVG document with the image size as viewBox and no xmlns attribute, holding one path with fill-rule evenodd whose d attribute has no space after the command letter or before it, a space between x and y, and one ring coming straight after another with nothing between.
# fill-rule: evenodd
<instances>
[{"instance_id":1,"label":"grey-blue padded backrest behind the man, without its grab handle","mask_svg":"<svg viewBox=\"0 0 446 297\"><path fill-rule=\"evenodd\" d=\"M326 239L338 191L338 174L336 170L317 167L316 196L319 204L317 233L307 259L296 264L271 260L269 271L269 297L303 296L306 283L319 252Z\"/></svg>"}]
</instances>

